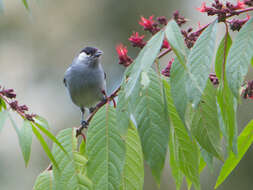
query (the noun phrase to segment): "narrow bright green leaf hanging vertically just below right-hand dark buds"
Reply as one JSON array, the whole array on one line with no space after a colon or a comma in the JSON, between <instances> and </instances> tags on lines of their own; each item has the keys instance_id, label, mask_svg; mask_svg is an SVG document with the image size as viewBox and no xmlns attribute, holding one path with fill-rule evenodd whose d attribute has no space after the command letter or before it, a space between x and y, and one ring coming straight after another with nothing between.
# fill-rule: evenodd
<instances>
[{"instance_id":1,"label":"narrow bright green leaf hanging vertically just below right-hand dark buds","mask_svg":"<svg viewBox=\"0 0 253 190\"><path fill-rule=\"evenodd\" d=\"M225 131L223 128L221 128L221 131L223 133L225 132L224 136L229 150L233 150L234 153L237 153L237 101L228 87L226 78L224 82L225 83L220 83L217 91L217 102L222 116L222 121L220 123L225 125Z\"/></svg>"}]
</instances>

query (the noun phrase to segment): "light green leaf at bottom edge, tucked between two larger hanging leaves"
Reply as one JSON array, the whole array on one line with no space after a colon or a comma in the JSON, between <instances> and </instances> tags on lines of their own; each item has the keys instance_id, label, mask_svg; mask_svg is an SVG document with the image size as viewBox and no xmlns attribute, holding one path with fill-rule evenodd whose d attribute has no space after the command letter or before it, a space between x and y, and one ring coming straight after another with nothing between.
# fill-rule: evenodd
<instances>
[{"instance_id":1,"label":"light green leaf at bottom edge, tucked between two larger hanging leaves","mask_svg":"<svg viewBox=\"0 0 253 190\"><path fill-rule=\"evenodd\" d=\"M141 190L144 183L143 155L141 141L132 122L130 122L125 142L126 160L120 190Z\"/></svg>"}]
</instances>

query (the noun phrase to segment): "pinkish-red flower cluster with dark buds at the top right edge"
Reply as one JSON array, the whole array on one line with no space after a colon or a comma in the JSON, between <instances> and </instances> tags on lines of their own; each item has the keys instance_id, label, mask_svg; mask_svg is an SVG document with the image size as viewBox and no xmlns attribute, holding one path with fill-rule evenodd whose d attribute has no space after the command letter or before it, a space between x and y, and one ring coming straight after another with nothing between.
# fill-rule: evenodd
<instances>
[{"instance_id":1,"label":"pinkish-red flower cluster with dark buds at the top right edge","mask_svg":"<svg viewBox=\"0 0 253 190\"><path fill-rule=\"evenodd\" d=\"M217 15L218 21L223 22L226 20L228 15L237 15L235 10L244 9L245 3L243 1L238 0L237 3L234 5L232 3L227 2L225 5L221 3L219 0L215 0L212 3L211 7L207 7L206 3L203 2L200 8L197 8L198 11L202 13L207 13L207 15Z\"/></svg>"}]
</instances>

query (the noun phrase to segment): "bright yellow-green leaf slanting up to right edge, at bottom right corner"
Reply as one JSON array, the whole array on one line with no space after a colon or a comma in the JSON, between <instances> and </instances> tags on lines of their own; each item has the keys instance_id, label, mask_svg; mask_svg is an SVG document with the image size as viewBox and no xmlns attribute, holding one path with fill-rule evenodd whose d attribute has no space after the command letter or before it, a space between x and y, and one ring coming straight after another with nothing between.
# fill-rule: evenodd
<instances>
[{"instance_id":1,"label":"bright yellow-green leaf slanting up to right edge, at bottom right corner","mask_svg":"<svg viewBox=\"0 0 253 190\"><path fill-rule=\"evenodd\" d=\"M223 181L229 176L233 169L238 165L242 157L245 155L249 147L253 142L253 120L243 129L238 137L238 155L234 155L230 152L227 160L223 164L220 175L217 179L215 189L223 183Z\"/></svg>"}]
</instances>

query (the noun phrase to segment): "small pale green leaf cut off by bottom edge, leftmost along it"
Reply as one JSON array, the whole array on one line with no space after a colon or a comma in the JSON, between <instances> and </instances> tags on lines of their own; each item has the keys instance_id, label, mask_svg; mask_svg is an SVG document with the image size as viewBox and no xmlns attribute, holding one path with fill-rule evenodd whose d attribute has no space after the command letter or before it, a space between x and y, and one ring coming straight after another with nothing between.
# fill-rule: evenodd
<instances>
[{"instance_id":1,"label":"small pale green leaf cut off by bottom edge, leftmost along it","mask_svg":"<svg viewBox=\"0 0 253 190\"><path fill-rule=\"evenodd\" d=\"M33 189L34 190L53 190L54 176L52 171L42 172L36 179Z\"/></svg>"}]
</instances>

